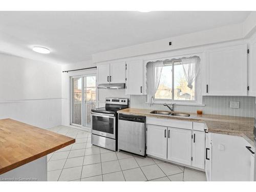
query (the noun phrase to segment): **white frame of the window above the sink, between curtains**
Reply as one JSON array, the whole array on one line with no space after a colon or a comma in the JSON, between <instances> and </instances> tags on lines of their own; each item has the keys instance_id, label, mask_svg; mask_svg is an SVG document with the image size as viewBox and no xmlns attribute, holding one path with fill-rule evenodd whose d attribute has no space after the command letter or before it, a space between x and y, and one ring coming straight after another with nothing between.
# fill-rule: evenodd
<instances>
[{"instance_id":1,"label":"white frame of the window above the sink, between curtains","mask_svg":"<svg viewBox=\"0 0 256 192\"><path fill-rule=\"evenodd\" d=\"M174 99L174 74L175 74L175 62L181 62L181 59L172 59L169 61L164 61L163 62L163 67L165 66L164 63L172 63L172 99L156 99L155 95L153 98L153 103L155 104L162 104L162 103L174 103L174 102L178 102L178 103L184 103L184 105L189 105L188 103L190 103L191 105L198 103L197 101L197 78L195 78L195 100L177 100ZM196 68L196 65L195 65ZM195 69L196 72L197 69Z\"/></svg>"}]
</instances>

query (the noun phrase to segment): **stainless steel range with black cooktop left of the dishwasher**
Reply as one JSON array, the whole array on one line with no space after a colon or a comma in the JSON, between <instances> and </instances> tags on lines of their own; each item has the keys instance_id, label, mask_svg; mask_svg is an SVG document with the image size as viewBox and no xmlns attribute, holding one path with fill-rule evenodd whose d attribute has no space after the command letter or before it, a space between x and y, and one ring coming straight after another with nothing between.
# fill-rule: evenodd
<instances>
[{"instance_id":1,"label":"stainless steel range with black cooktop left of the dishwasher","mask_svg":"<svg viewBox=\"0 0 256 192\"><path fill-rule=\"evenodd\" d=\"M91 111L92 144L117 151L117 111L128 106L128 99L106 98L104 108Z\"/></svg>"}]
</instances>

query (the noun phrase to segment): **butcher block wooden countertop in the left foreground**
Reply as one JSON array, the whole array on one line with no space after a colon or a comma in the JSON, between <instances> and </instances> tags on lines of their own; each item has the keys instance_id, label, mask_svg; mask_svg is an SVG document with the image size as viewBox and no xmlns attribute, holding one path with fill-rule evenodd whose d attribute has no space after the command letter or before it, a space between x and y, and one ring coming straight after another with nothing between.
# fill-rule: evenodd
<instances>
[{"instance_id":1,"label":"butcher block wooden countertop in the left foreground","mask_svg":"<svg viewBox=\"0 0 256 192\"><path fill-rule=\"evenodd\" d=\"M0 120L0 175L75 142L13 119Z\"/></svg>"}]
</instances>

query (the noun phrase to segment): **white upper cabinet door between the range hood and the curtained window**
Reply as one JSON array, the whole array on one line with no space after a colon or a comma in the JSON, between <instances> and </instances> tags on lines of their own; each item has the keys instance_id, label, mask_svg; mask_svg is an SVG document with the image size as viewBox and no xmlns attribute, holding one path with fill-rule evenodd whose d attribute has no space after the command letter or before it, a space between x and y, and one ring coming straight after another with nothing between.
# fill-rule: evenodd
<instances>
[{"instance_id":1,"label":"white upper cabinet door between the range hood and the curtained window","mask_svg":"<svg viewBox=\"0 0 256 192\"><path fill-rule=\"evenodd\" d=\"M126 95L143 95L143 60L126 61Z\"/></svg>"}]
</instances>

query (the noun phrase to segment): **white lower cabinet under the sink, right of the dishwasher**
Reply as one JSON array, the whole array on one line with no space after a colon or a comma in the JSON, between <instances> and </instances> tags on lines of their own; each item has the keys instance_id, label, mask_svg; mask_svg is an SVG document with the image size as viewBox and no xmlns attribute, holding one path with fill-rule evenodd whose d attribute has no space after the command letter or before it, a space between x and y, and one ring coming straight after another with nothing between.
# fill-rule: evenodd
<instances>
[{"instance_id":1,"label":"white lower cabinet under the sink, right of the dishwasher","mask_svg":"<svg viewBox=\"0 0 256 192\"><path fill-rule=\"evenodd\" d=\"M204 124L190 121L147 118L146 154L172 162L205 167ZM158 124L158 125L156 125Z\"/></svg>"}]
</instances>

